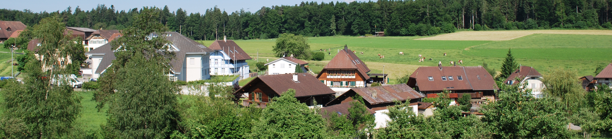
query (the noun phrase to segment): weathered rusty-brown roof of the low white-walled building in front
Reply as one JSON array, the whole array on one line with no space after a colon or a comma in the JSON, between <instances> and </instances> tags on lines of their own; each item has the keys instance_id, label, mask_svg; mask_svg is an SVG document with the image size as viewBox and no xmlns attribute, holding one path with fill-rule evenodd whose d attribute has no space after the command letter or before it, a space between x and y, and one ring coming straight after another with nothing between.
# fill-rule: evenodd
<instances>
[{"instance_id":1,"label":"weathered rusty-brown roof of the low white-walled building in front","mask_svg":"<svg viewBox=\"0 0 612 139\"><path fill-rule=\"evenodd\" d=\"M404 101L408 99L419 99L425 97L423 94L414 91L414 89L410 88L410 86L403 83L398 85L376 86L369 88L351 88L349 91L356 92L370 104L389 103L393 102L394 100ZM372 96L373 92L376 92L376 98ZM334 100L332 100L332 102L333 101Z\"/></svg>"}]
</instances>

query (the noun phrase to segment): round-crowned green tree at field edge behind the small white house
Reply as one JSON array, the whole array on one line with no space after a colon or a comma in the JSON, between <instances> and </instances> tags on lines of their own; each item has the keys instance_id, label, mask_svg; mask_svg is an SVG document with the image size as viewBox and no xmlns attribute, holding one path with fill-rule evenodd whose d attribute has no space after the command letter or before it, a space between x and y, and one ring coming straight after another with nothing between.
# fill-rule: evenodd
<instances>
[{"instance_id":1,"label":"round-crowned green tree at field edge behind the small white house","mask_svg":"<svg viewBox=\"0 0 612 139\"><path fill-rule=\"evenodd\" d=\"M272 51L279 58L285 56L285 54L293 54L298 59L310 59L312 57L308 38L291 33L280 34L276 39L276 45L272 47Z\"/></svg>"}]
</instances>

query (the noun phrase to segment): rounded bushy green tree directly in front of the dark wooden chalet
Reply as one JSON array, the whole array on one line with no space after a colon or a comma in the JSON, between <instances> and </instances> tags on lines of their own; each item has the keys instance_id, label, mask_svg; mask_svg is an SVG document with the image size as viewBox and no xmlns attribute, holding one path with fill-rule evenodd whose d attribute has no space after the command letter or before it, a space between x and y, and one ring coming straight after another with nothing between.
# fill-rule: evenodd
<instances>
[{"instance_id":1,"label":"rounded bushy green tree directly in front of the dark wooden chalet","mask_svg":"<svg viewBox=\"0 0 612 139\"><path fill-rule=\"evenodd\" d=\"M318 110L300 103L289 89L268 103L247 138L331 138Z\"/></svg>"}]
</instances>

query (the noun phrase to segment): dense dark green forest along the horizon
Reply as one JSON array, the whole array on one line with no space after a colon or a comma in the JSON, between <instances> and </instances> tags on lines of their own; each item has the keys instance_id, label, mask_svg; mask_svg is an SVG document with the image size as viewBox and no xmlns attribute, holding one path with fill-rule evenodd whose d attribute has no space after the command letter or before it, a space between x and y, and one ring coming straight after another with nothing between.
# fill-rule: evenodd
<instances>
[{"instance_id":1,"label":"dense dark green forest along the horizon","mask_svg":"<svg viewBox=\"0 0 612 139\"><path fill-rule=\"evenodd\" d=\"M160 23L194 40L269 39L289 32L303 36L364 36L385 31L386 36L429 36L455 29L602 29L610 24L609 0L416 0L376 2L305 1L294 6L205 13L176 11L165 6ZM67 26L124 29L142 9L118 10L98 5L91 10L67 7L54 12L0 9L0 20L33 26L58 15Z\"/></svg>"}]
</instances>

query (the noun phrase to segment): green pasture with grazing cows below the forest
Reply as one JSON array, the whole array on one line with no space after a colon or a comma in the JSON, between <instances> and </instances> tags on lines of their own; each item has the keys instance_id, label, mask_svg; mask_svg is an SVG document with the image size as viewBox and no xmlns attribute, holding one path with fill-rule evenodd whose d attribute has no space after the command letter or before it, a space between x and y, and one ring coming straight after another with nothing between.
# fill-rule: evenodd
<instances>
[{"instance_id":1,"label":"green pasture with grazing cows below the forest","mask_svg":"<svg viewBox=\"0 0 612 139\"><path fill-rule=\"evenodd\" d=\"M494 34L501 34L515 31L462 31L455 32L471 34L483 33L487 36L495 37ZM527 36L512 40L420 40L433 37L351 37L351 36L332 36L332 37L310 37L309 44L312 51L319 49L331 49L332 52L324 61L309 61L313 72L323 69L326 61L335 56L335 52L346 44L353 51L357 51L357 56L365 61L372 70L370 73L382 73L383 65L396 65L385 67L385 72L390 73L390 81L394 81L400 75L414 72L419 66L438 66L441 61L443 66L450 66L449 61L463 60L461 66L480 66L487 62L489 66L500 71L501 64L506 57L508 48L512 48L512 53L517 62L523 66L535 67L541 73L547 73L549 68L562 67L564 69L577 70L578 75L593 75L595 67L604 65L612 59L612 36L607 32L598 30L538 30L523 31L530 32ZM547 34L534 34L535 32L547 32ZM574 33L574 34L571 34ZM589 35L604 34L604 35ZM440 35L444 37L446 34ZM448 36L448 35L446 35ZM435 36L439 37L439 36ZM263 57L274 57L272 47L274 39L267 40L236 40L253 58L259 51L260 61ZM213 41L198 41L208 46ZM404 55L398 54L403 52ZM364 54L359 54L364 52ZM447 56L443 56L447 53ZM378 54L385 56L380 59ZM419 62L418 55L426 58L424 62ZM428 59L432 60L428 60ZM252 69L255 68L249 63ZM412 68L410 68L412 67ZM319 69L320 68L320 69ZM389 69L387 69L389 68ZM393 71L393 72L391 72Z\"/></svg>"}]
</instances>

